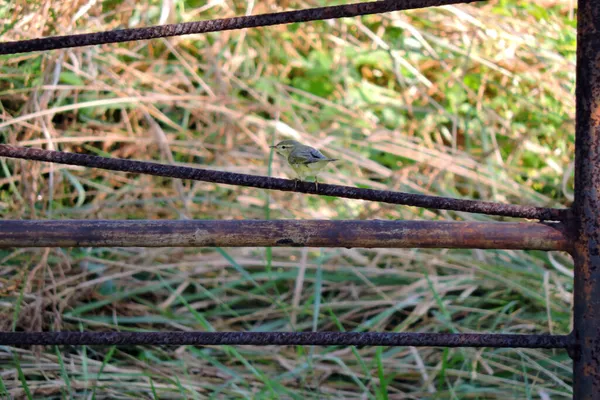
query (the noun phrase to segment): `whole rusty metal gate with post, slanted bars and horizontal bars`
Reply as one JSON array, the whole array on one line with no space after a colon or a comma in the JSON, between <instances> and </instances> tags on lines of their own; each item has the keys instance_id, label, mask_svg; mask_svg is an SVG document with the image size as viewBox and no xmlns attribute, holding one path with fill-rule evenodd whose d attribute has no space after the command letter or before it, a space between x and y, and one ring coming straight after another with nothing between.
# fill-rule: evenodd
<instances>
[{"instance_id":1,"label":"whole rusty metal gate with post, slanted bars and horizontal bars","mask_svg":"<svg viewBox=\"0 0 600 400\"><path fill-rule=\"evenodd\" d=\"M141 29L0 43L0 54L353 17L479 0L385 0ZM561 250L575 265L569 335L359 332L0 332L0 345L357 345L564 349L575 399L600 399L600 0L577 10L575 201L570 209L301 183L0 144L0 156L539 222L0 221L0 247L421 247ZM307 235L306 232L313 232ZM131 232L135 232L132 234ZM198 232L203 232L199 234ZM316 232L316 233L315 233ZM352 234L339 235L340 232Z\"/></svg>"}]
</instances>

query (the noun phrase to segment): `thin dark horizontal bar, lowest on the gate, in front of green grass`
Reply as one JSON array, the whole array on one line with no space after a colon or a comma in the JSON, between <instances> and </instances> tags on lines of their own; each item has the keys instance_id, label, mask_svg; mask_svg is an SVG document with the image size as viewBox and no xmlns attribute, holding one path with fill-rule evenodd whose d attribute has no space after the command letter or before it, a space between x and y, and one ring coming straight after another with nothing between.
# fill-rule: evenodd
<instances>
[{"instance_id":1,"label":"thin dark horizontal bar, lowest on the gate, in front of green grass","mask_svg":"<svg viewBox=\"0 0 600 400\"><path fill-rule=\"evenodd\" d=\"M0 345L315 345L568 348L565 335L387 332L6 332Z\"/></svg>"}]
</instances>

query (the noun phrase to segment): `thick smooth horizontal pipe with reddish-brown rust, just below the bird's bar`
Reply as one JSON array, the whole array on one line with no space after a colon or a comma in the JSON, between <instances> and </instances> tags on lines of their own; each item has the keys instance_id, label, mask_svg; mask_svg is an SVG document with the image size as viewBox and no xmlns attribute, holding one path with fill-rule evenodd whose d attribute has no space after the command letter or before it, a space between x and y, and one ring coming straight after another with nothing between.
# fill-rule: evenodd
<instances>
[{"instance_id":1,"label":"thick smooth horizontal pipe with reddish-brown rust, just below the bird's bar","mask_svg":"<svg viewBox=\"0 0 600 400\"><path fill-rule=\"evenodd\" d=\"M560 223L378 220L0 221L0 247L111 246L569 250Z\"/></svg>"}]
</instances>

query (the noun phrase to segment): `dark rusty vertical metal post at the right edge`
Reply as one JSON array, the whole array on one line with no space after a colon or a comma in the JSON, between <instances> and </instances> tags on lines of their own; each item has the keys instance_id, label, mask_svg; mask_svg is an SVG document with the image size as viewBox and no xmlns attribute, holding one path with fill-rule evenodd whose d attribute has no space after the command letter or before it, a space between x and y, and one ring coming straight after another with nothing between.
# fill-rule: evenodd
<instances>
[{"instance_id":1,"label":"dark rusty vertical metal post at the right edge","mask_svg":"<svg viewBox=\"0 0 600 400\"><path fill-rule=\"evenodd\" d=\"M574 398L600 399L600 0L577 10Z\"/></svg>"}]
</instances>

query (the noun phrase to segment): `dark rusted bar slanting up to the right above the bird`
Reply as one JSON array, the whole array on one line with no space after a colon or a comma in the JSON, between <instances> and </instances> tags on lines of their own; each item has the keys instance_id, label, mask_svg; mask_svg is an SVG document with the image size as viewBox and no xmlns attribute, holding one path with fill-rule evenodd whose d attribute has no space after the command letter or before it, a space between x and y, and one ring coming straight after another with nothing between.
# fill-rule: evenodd
<instances>
[{"instance_id":1,"label":"dark rusted bar slanting up to the right above the bird","mask_svg":"<svg viewBox=\"0 0 600 400\"><path fill-rule=\"evenodd\" d=\"M360 15L379 14L390 11L410 10L415 8L443 6L458 3L472 3L475 1L482 0L385 0L234 18L186 22L146 28L120 29L78 35L53 36L40 39L0 43L0 54L64 49L69 47L190 35L194 33L207 33L243 28L255 28L260 26L290 24L294 22L356 17Z\"/></svg>"}]
</instances>

